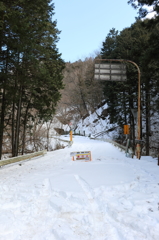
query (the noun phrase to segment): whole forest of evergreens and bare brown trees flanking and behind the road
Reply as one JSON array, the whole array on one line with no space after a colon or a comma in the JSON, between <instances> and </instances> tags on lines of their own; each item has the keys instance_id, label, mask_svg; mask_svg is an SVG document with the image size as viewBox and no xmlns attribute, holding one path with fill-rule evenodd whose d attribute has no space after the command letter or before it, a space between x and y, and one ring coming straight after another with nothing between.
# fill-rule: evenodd
<instances>
[{"instance_id":1,"label":"whole forest of evergreens and bare brown trees flanking and behind the road","mask_svg":"<svg viewBox=\"0 0 159 240\"><path fill-rule=\"evenodd\" d=\"M50 0L0 1L0 158L6 142L12 156L24 154L27 141L36 138L37 125L45 123L49 129L55 114L63 124L71 119L78 122L103 102L108 105L110 123L119 126L116 140L123 139L123 125L129 124L134 141L136 123L131 109L137 107L137 69L126 63L126 82L97 81L97 59L127 59L139 66L143 154L157 155L159 6L156 0L130 0L129 4L139 10L134 24L120 32L110 29L95 58L65 63L56 47L60 31L52 21ZM153 6L154 18L145 18L145 4Z\"/></svg>"}]
</instances>

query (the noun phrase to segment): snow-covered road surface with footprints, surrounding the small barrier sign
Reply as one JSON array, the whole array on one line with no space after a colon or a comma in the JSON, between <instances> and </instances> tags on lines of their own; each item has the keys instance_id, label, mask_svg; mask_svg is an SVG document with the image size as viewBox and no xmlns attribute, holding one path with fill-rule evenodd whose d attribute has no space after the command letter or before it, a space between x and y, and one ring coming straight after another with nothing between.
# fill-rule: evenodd
<instances>
[{"instance_id":1,"label":"snow-covered road surface with footprints, surrounding the small barrier sign","mask_svg":"<svg viewBox=\"0 0 159 240\"><path fill-rule=\"evenodd\" d=\"M157 160L73 141L0 169L0 240L159 240ZM92 162L71 161L72 151Z\"/></svg>"}]
</instances>

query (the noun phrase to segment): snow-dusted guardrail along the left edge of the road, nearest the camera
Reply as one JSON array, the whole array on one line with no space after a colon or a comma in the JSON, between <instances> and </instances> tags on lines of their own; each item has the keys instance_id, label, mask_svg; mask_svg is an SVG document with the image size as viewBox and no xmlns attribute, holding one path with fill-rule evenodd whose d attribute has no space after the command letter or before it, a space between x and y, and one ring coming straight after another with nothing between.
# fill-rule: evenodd
<instances>
[{"instance_id":1,"label":"snow-dusted guardrail along the left edge of the road, nearest the camera","mask_svg":"<svg viewBox=\"0 0 159 240\"><path fill-rule=\"evenodd\" d=\"M46 153L47 153L47 150L43 150L43 151L39 151L39 152L35 152L35 153L30 153L30 154L26 154L26 155L22 155L22 156L17 156L17 157L13 157L13 158L9 158L9 159L0 160L0 167L7 165L7 164L20 162L20 161L23 161L26 159L38 157L38 156L44 155Z\"/></svg>"}]
</instances>

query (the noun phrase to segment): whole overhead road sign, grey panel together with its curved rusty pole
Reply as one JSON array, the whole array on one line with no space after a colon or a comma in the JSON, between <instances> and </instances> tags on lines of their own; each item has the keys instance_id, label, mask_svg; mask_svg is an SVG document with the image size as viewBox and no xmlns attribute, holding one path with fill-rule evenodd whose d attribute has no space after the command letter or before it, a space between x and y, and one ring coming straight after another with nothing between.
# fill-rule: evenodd
<instances>
[{"instance_id":1,"label":"whole overhead road sign, grey panel together with its curved rusty pole","mask_svg":"<svg viewBox=\"0 0 159 240\"><path fill-rule=\"evenodd\" d=\"M138 114L137 114L137 139L136 156L141 158L141 83L140 83L140 69L138 65L130 60L125 59L96 59L95 60L95 80L105 81L126 81L126 65L125 63L133 64L138 71ZM97 63L98 62L98 63ZM102 63L101 63L102 62ZM106 63L103 63L106 62ZM112 62L118 62L112 63Z\"/></svg>"}]
</instances>

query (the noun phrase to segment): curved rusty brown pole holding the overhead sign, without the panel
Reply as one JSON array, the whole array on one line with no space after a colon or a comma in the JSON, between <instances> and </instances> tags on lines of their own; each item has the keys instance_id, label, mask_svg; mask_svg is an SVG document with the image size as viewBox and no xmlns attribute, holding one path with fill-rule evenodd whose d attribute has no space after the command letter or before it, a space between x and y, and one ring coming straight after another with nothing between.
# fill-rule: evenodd
<instances>
[{"instance_id":1,"label":"curved rusty brown pole holding the overhead sign, without the panel","mask_svg":"<svg viewBox=\"0 0 159 240\"><path fill-rule=\"evenodd\" d=\"M126 59L96 59L96 61L110 61L110 62L129 62L132 63L138 70L138 116L137 116L137 146L136 146L136 155L137 158L140 159L141 158L141 146L140 146L140 138L141 138L141 83L140 83L140 68L139 66L130 60L126 60Z\"/></svg>"}]
</instances>

